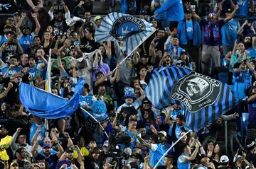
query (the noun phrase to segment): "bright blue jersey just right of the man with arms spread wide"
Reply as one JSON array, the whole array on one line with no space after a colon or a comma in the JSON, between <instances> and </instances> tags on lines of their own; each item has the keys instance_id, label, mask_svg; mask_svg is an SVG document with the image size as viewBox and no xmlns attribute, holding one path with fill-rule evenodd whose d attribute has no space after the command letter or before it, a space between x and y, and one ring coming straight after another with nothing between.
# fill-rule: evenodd
<instances>
[{"instance_id":1,"label":"bright blue jersey just right of the man with arms spread wide","mask_svg":"<svg viewBox=\"0 0 256 169\"><path fill-rule=\"evenodd\" d=\"M234 45L235 40L238 39L238 28L239 22L236 20L228 21L228 23L225 23L225 25L223 25L223 27L221 28L223 44L230 46Z\"/></svg>"}]
</instances>

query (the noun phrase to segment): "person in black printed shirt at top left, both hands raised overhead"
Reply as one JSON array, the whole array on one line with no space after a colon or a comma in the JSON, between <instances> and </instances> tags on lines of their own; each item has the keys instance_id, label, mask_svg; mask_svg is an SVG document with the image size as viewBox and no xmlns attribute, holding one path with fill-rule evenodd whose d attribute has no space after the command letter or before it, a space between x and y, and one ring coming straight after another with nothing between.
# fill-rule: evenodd
<instances>
[{"instance_id":1,"label":"person in black printed shirt at top left, both hands raised overhead","mask_svg":"<svg viewBox=\"0 0 256 169\"><path fill-rule=\"evenodd\" d=\"M49 16L50 16L50 25L53 27L53 35L64 35L65 31L68 30L68 25L65 22L66 19L70 19L70 11L68 7L65 5L64 1L61 1L61 5L64 6L65 10L65 18L63 11L58 11L56 18L53 16L54 6L56 4L54 3L53 6L50 8Z\"/></svg>"}]
</instances>

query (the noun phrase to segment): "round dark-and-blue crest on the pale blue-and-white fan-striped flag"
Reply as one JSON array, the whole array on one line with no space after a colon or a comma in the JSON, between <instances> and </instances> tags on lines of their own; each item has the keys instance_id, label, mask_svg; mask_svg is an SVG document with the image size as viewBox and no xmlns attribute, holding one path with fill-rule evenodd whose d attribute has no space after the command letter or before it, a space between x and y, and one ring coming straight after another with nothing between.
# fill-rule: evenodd
<instances>
[{"instance_id":1,"label":"round dark-and-blue crest on the pale blue-and-white fan-striped flag","mask_svg":"<svg viewBox=\"0 0 256 169\"><path fill-rule=\"evenodd\" d=\"M145 30L146 25L139 18L122 16L114 21L110 34L118 41L124 41L127 37Z\"/></svg>"}]
</instances>

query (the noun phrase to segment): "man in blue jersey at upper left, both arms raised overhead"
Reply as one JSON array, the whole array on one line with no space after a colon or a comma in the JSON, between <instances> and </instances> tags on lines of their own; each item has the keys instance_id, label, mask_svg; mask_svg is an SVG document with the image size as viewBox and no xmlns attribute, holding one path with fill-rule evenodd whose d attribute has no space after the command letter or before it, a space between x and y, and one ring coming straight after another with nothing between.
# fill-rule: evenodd
<instances>
[{"instance_id":1,"label":"man in blue jersey at upper left, both arms raised overhead","mask_svg":"<svg viewBox=\"0 0 256 169\"><path fill-rule=\"evenodd\" d=\"M38 35L41 26L38 22L36 13L32 13L32 17L36 23L36 29L31 33L31 27L29 25L23 25L22 29L20 30L21 24L23 23L24 19L26 18L26 13L22 13L21 20L16 25L16 33L18 35L18 43L21 45L23 51L26 51L28 47L31 45L31 42L33 41L33 37L35 35Z\"/></svg>"}]
</instances>

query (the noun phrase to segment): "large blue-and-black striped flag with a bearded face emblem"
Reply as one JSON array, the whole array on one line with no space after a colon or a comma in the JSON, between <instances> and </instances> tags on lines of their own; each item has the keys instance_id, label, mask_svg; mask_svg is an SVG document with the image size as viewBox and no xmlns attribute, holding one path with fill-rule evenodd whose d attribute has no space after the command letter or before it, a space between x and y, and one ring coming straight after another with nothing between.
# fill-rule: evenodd
<instances>
[{"instance_id":1,"label":"large blue-and-black striped flag with a bearded face emblem","mask_svg":"<svg viewBox=\"0 0 256 169\"><path fill-rule=\"evenodd\" d=\"M155 69L145 93L160 109L180 103L186 125L196 132L239 103L227 84L179 66Z\"/></svg>"}]
</instances>

